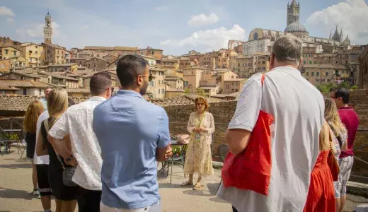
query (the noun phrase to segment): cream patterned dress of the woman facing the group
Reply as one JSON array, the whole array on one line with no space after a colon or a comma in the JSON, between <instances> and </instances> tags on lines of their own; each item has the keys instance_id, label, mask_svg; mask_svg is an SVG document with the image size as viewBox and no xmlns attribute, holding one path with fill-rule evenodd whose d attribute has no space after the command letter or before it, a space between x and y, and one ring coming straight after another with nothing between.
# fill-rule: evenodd
<instances>
[{"instance_id":1,"label":"cream patterned dress of the woman facing the group","mask_svg":"<svg viewBox=\"0 0 368 212\"><path fill-rule=\"evenodd\" d=\"M203 121L200 125L202 118ZM206 131L197 133L196 136L196 133L193 132L196 127L202 127ZM197 172L203 177L213 175L211 143L212 133L214 132L214 117L209 112L204 112L202 116L198 112L192 112L187 129L190 133L190 141L185 155L185 174Z\"/></svg>"}]
</instances>

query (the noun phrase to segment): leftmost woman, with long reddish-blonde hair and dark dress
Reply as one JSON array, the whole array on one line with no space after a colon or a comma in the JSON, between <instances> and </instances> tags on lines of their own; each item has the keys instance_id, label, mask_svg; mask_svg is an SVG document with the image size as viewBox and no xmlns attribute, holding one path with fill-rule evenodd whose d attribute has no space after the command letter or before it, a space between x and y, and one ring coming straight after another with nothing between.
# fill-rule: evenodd
<instances>
[{"instance_id":1,"label":"leftmost woman, with long reddish-blonde hair and dark dress","mask_svg":"<svg viewBox=\"0 0 368 212\"><path fill-rule=\"evenodd\" d=\"M38 117L43 112L42 103L39 101L30 102L27 112L25 112L23 130L25 131L25 142L27 143L26 155L32 161L32 182L33 182L33 195L38 196L37 185L37 172L36 165L33 163L33 155L35 155L36 146L36 123Z\"/></svg>"}]
</instances>

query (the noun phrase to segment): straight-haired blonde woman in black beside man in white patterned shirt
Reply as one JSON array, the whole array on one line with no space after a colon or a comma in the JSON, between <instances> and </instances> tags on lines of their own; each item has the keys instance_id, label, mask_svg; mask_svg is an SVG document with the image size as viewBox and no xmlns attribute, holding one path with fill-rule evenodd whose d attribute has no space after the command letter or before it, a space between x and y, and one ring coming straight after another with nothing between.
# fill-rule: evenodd
<instances>
[{"instance_id":1,"label":"straight-haired blonde woman in black beside man in white patterned shirt","mask_svg":"<svg viewBox=\"0 0 368 212\"><path fill-rule=\"evenodd\" d=\"M46 155L47 153L49 155L50 164L48 179L52 195L55 197L56 211L72 212L76 208L77 187L67 187L64 185L62 181L63 166L70 167L70 165L64 163L64 158L61 158L62 161L57 158L57 153L54 151L54 148L52 148L50 141L47 140L47 126L45 126L45 122L47 122L49 129L51 129L57 119L67 110L67 91L62 88L54 88L47 97L47 108L50 118L46 119L41 124L36 153L38 156ZM69 135L64 137L64 141L70 141Z\"/></svg>"}]
</instances>

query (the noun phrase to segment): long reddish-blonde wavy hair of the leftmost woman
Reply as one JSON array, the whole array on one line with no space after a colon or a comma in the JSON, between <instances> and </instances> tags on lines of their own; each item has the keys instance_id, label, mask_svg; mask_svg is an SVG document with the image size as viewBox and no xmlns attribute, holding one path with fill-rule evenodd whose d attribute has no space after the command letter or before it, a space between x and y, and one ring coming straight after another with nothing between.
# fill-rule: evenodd
<instances>
[{"instance_id":1,"label":"long reddish-blonde wavy hair of the leftmost woman","mask_svg":"<svg viewBox=\"0 0 368 212\"><path fill-rule=\"evenodd\" d=\"M25 117L23 121L23 129L31 134L35 134L36 132L36 124L37 119L40 117L40 114L43 112L42 103L38 100L30 102L27 108L27 112L25 112Z\"/></svg>"}]
</instances>

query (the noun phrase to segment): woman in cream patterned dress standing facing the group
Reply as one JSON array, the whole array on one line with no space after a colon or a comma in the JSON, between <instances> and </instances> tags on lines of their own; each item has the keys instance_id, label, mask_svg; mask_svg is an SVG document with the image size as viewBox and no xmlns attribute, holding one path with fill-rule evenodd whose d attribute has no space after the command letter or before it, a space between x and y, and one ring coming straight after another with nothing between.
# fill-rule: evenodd
<instances>
[{"instance_id":1,"label":"woman in cream patterned dress standing facing the group","mask_svg":"<svg viewBox=\"0 0 368 212\"><path fill-rule=\"evenodd\" d=\"M213 175L212 167L212 133L214 133L214 117L207 112L209 106L205 98L195 99L197 112L192 112L189 117L187 129L190 133L188 151L185 155L184 173L189 175L188 182L181 186L193 185L193 174L198 173L197 183L193 189L201 187L202 177Z\"/></svg>"}]
</instances>

